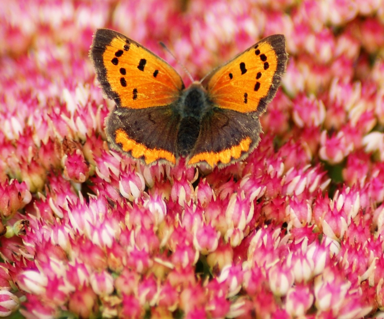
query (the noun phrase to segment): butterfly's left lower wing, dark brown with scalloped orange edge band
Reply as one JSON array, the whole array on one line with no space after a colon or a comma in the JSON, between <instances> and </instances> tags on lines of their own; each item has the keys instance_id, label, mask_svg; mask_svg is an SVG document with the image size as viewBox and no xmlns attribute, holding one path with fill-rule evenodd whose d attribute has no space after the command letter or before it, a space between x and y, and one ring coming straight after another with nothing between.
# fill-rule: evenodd
<instances>
[{"instance_id":1,"label":"butterfly's left lower wing, dark brown with scalloped orange edge band","mask_svg":"<svg viewBox=\"0 0 384 319\"><path fill-rule=\"evenodd\" d=\"M140 110L115 107L106 119L106 134L115 150L148 165L175 164L179 121L168 106Z\"/></svg>"}]
</instances>

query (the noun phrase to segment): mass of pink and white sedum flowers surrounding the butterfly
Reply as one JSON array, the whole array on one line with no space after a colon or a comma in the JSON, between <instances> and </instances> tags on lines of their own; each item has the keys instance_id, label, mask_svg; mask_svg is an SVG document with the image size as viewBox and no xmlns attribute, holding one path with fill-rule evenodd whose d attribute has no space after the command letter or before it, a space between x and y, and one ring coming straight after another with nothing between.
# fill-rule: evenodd
<instances>
[{"instance_id":1,"label":"mass of pink and white sedum flowers surrounding the butterfly","mask_svg":"<svg viewBox=\"0 0 384 319\"><path fill-rule=\"evenodd\" d=\"M384 318L382 0L2 0L0 316ZM124 33L199 79L286 36L257 150L213 171L109 151L88 58Z\"/></svg>"}]
</instances>

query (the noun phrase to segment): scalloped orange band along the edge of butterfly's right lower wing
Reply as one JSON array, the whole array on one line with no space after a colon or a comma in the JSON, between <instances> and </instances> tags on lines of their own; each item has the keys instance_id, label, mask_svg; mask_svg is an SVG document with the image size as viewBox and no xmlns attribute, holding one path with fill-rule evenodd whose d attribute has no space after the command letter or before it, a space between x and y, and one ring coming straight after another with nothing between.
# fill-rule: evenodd
<instances>
[{"instance_id":1,"label":"scalloped orange band along the edge of butterfly's right lower wing","mask_svg":"<svg viewBox=\"0 0 384 319\"><path fill-rule=\"evenodd\" d=\"M188 165L196 165L200 162L206 162L212 168L219 162L221 164L229 164L231 161L238 160L244 153L248 152L252 140L250 137L246 137L240 141L239 145L232 146L226 150L220 152L203 152L198 153L189 159Z\"/></svg>"}]
</instances>

